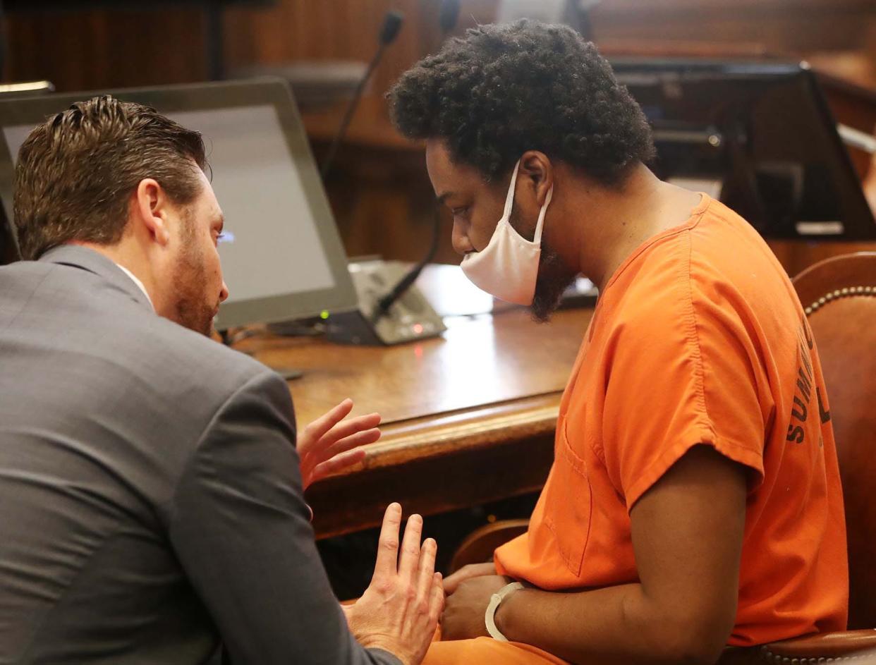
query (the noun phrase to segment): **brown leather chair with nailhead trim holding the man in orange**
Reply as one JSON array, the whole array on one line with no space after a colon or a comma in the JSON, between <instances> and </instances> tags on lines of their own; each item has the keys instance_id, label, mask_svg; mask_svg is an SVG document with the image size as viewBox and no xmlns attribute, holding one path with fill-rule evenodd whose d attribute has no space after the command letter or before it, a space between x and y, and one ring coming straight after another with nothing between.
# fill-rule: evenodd
<instances>
[{"instance_id":1,"label":"brown leather chair with nailhead trim holding the man in orange","mask_svg":"<svg viewBox=\"0 0 876 665\"><path fill-rule=\"evenodd\" d=\"M801 272L794 286L818 345L837 440L849 542L849 630L728 648L719 665L876 663L876 252L825 259ZM526 520L478 529L456 550L453 569L486 561L525 531Z\"/></svg>"}]
</instances>

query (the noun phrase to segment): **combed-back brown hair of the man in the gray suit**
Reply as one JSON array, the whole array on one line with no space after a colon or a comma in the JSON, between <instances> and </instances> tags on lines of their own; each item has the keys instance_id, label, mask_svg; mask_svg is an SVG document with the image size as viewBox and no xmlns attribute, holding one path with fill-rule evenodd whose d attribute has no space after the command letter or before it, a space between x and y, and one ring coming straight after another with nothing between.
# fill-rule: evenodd
<instances>
[{"instance_id":1,"label":"combed-back brown hair of the man in the gray suit","mask_svg":"<svg viewBox=\"0 0 876 665\"><path fill-rule=\"evenodd\" d=\"M197 165L197 168L194 165ZM23 258L71 240L116 244L145 178L187 205L201 192L201 134L137 103L99 96L31 131L18 152L15 225Z\"/></svg>"}]
</instances>

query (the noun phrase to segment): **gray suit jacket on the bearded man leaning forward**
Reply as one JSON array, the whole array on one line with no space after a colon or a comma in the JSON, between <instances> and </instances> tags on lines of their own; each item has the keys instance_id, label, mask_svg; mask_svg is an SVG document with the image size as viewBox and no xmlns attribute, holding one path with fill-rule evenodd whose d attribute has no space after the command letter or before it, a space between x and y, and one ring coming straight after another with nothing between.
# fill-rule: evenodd
<instances>
[{"instance_id":1,"label":"gray suit jacket on the bearded man leaning forward","mask_svg":"<svg viewBox=\"0 0 876 665\"><path fill-rule=\"evenodd\" d=\"M0 268L0 663L397 663L347 630L286 383L65 246Z\"/></svg>"}]
</instances>

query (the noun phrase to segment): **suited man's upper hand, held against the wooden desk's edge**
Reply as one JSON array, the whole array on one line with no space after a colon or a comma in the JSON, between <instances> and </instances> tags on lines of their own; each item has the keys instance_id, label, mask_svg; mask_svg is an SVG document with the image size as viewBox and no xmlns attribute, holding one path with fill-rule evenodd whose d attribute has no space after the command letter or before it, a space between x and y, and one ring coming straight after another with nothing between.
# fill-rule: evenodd
<instances>
[{"instance_id":1,"label":"suited man's upper hand, held against the wooden desk's edge","mask_svg":"<svg viewBox=\"0 0 876 665\"><path fill-rule=\"evenodd\" d=\"M338 470L359 463L365 456L360 448L380 438L380 414L344 419L353 410L353 400L343 400L300 431L298 455L304 489Z\"/></svg>"}]
</instances>

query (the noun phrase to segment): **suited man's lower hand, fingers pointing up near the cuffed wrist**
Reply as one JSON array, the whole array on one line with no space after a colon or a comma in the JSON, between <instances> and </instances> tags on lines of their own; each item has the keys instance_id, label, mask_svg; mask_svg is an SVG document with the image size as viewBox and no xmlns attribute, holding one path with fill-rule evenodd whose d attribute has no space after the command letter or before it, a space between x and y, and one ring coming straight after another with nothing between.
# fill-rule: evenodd
<instances>
[{"instance_id":1,"label":"suited man's lower hand, fingers pointing up near the cuffed wrist","mask_svg":"<svg viewBox=\"0 0 876 665\"><path fill-rule=\"evenodd\" d=\"M441 573L434 572L435 541L420 548L423 519L411 515L399 556L401 506L386 508L380 530L374 577L355 605L343 607L350 631L364 647L395 654L405 665L419 665L444 608Z\"/></svg>"}]
</instances>

